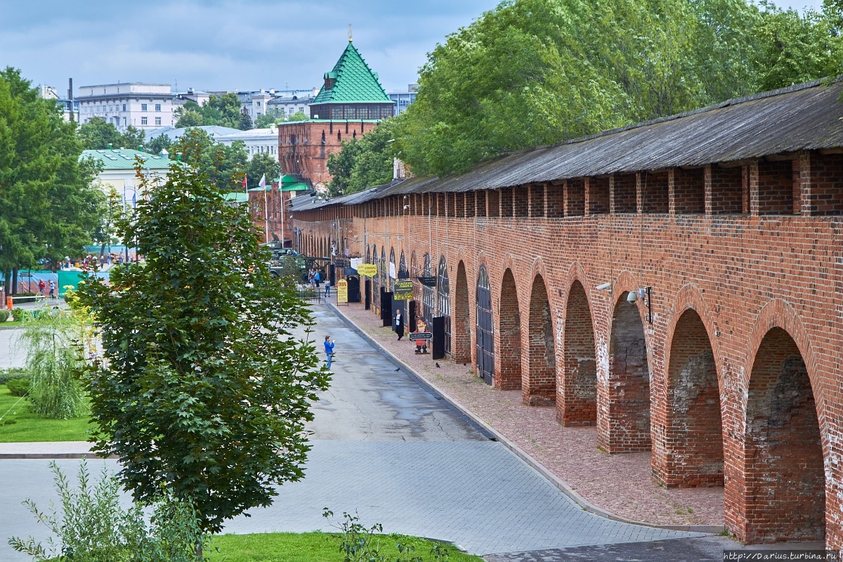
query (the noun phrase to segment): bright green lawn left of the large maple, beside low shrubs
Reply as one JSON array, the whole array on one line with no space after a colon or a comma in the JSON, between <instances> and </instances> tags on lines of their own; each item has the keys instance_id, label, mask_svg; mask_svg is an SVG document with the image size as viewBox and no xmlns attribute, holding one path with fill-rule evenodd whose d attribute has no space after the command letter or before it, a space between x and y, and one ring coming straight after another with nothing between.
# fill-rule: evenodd
<instances>
[{"instance_id":1,"label":"bright green lawn left of the large maple, beside low shrubs","mask_svg":"<svg viewBox=\"0 0 843 562\"><path fill-rule=\"evenodd\" d=\"M5 384L0 384L0 416L3 443L88 441L85 431L93 427L87 415L73 420L45 420L31 414L29 401L9 394Z\"/></svg>"}]
</instances>

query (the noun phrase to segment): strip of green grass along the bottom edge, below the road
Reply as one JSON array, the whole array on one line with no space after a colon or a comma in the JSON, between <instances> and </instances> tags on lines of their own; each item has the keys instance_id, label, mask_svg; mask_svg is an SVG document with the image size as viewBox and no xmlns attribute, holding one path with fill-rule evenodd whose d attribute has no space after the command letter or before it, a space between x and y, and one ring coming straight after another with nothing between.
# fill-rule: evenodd
<instances>
[{"instance_id":1,"label":"strip of green grass along the bottom edge, below the road","mask_svg":"<svg viewBox=\"0 0 843 562\"><path fill-rule=\"evenodd\" d=\"M427 561L435 560L430 549L432 542L404 535L379 535L380 554L384 559L398 559L397 543L410 544ZM211 562L342 562L341 538L336 533L260 533L250 535L218 535L206 550ZM217 548L220 550L217 552ZM482 562L448 545L449 562ZM411 556L404 554L404 558Z\"/></svg>"}]
</instances>

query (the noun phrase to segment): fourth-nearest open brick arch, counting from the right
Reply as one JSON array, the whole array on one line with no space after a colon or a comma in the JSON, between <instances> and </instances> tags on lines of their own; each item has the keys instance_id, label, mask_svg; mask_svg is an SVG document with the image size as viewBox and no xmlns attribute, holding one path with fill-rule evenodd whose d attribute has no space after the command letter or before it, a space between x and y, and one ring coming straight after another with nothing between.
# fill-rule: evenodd
<instances>
[{"instance_id":1,"label":"fourth-nearest open brick arch, counting from the right","mask_svg":"<svg viewBox=\"0 0 843 562\"><path fill-rule=\"evenodd\" d=\"M556 419L563 426L597 423L597 360L588 295L575 278L566 298L562 331L562 372Z\"/></svg>"}]
</instances>

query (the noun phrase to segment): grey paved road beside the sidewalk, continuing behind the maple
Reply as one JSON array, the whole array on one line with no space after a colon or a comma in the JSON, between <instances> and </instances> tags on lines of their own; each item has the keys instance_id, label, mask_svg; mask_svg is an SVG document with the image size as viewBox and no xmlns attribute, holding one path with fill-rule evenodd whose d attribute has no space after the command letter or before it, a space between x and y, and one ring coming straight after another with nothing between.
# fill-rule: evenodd
<instances>
[{"instance_id":1,"label":"grey paved road beside the sidewalk, continuing behind the maple","mask_svg":"<svg viewBox=\"0 0 843 562\"><path fill-rule=\"evenodd\" d=\"M271 507L235 518L226 532L326 530L330 522L321 514L329 507L338 516L357 511L363 523L381 523L388 533L439 538L484 555L700 536L583 511L329 308L314 310L318 326L311 337L334 336L337 358L334 380L309 426L313 449L305 478L283 485ZM94 472L116 466L89 462ZM73 474L78 461L60 463ZM0 497L0 529L40 532L20 502L48 504L46 461L0 460L0 481L15 483ZM0 559L24 557L0 540Z\"/></svg>"}]
</instances>

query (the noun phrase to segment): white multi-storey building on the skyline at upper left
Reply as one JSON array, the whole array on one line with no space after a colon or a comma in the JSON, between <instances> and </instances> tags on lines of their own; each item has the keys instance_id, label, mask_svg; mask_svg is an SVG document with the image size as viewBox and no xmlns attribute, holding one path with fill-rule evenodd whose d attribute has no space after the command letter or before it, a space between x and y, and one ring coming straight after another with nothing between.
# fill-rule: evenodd
<instances>
[{"instance_id":1,"label":"white multi-storey building on the skyline at upper left","mask_svg":"<svg viewBox=\"0 0 843 562\"><path fill-rule=\"evenodd\" d=\"M132 82L81 86L76 100L81 123L101 117L124 131L173 126L174 98L169 84Z\"/></svg>"}]
</instances>

